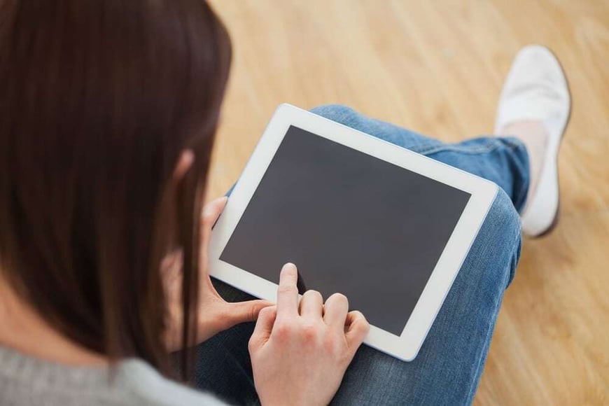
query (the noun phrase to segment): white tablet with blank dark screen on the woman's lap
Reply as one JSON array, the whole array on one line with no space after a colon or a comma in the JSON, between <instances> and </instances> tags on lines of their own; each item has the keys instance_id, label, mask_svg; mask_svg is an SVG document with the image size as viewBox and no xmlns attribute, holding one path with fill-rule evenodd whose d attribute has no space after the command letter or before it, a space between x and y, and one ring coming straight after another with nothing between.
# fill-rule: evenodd
<instances>
[{"instance_id":1,"label":"white tablet with blank dark screen on the woman's lap","mask_svg":"<svg viewBox=\"0 0 609 406\"><path fill-rule=\"evenodd\" d=\"M210 274L275 301L279 271L293 262L301 288L344 293L366 316L366 344L412 360L496 193L478 176L282 104L214 227Z\"/></svg>"}]
</instances>

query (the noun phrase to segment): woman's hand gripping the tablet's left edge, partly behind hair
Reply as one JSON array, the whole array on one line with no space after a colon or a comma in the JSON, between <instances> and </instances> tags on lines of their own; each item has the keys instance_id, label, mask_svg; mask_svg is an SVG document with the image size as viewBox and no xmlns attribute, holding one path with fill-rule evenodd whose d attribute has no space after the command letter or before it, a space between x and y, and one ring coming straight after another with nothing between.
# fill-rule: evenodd
<instances>
[{"instance_id":1,"label":"woman's hand gripping the tablet's left edge, partly behind hair","mask_svg":"<svg viewBox=\"0 0 609 406\"><path fill-rule=\"evenodd\" d=\"M246 302L226 302L211 284L208 269L209 239L211 228L218 220L226 202L226 197L212 200L203 207L201 221L201 262L200 262L200 309L199 323L197 325L197 342L216 335L218 332L231 328L233 325L246 321L256 321L261 309L271 306L266 300L248 300ZM162 274L167 286L167 302L172 326L167 332L167 347L169 351L181 349L182 337L182 255L175 253L169 255L162 264Z\"/></svg>"}]
</instances>

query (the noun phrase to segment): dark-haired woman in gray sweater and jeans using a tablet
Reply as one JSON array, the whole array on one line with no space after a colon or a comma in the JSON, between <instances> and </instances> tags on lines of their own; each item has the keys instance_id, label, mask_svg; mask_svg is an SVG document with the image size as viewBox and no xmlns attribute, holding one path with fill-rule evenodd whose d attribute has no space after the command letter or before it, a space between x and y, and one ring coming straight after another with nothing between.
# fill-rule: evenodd
<instances>
[{"instance_id":1,"label":"dark-haired woman in gray sweater and jeans using a tablet","mask_svg":"<svg viewBox=\"0 0 609 406\"><path fill-rule=\"evenodd\" d=\"M412 363L360 347L368 324L346 297L299 303L294 265L276 305L216 281L230 302L218 295L205 251L225 198L202 201L229 64L200 0L0 1L0 402L221 404L170 380L177 350L180 379L196 360L197 386L231 402L470 402L517 211L532 235L557 212L569 100L554 57L514 63L496 132L517 138L449 145L316 110L503 189Z\"/></svg>"}]
</instances>

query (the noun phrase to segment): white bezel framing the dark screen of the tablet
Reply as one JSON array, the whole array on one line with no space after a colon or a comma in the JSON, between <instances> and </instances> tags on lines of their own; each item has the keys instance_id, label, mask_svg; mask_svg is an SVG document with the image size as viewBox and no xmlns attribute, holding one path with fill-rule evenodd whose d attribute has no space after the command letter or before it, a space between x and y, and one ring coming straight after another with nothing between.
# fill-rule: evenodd
<instances>
[{"instance_id":1,"label":"white bezel framing the dark screen of the tablet","mask_svg":"<svg viewBox=\"0 0 609 406\"><path fill-rule=\"evenodd\" d=\"M397 336L372 325L365 339L366 344L396 358L414 359L486 218L498 186L479 176L353 130L351 127L335 123L309 111L290 104L281 104L269 121L232 190L230 199L214 226L209 245L211 276L272 302L276 302L276 283L224 262L220 259L220 255L290 125L470 193L470 200L444 246L444 251L423 288L402 334ZM279 269L277 272L279 273Z\"/></svg>"}]
</instances>

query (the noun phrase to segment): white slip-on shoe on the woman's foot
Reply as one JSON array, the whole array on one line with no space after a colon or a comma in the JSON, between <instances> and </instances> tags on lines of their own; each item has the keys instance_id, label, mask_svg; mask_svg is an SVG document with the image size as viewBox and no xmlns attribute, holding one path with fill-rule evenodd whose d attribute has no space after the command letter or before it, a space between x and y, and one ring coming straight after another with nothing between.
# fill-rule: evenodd
<instances>
[{"instance_id":1,"label":"white slip-on shoe on the woman's foot","mask_svg":"<svg viewBox=\"0 0 609 406\"><path fill-rule=\"evenodd\" d=\"M501 91L495 134L519 121L540 121L547 130L547 149L537 188L521 214L522 230L528 237L550 232L559 214L559 146L570 115L567 80L549 49L528 45L514 58Z\"/></svg>"}]
</instances>

